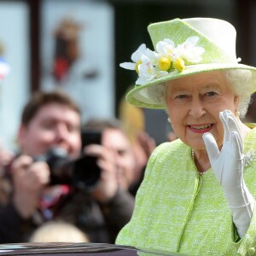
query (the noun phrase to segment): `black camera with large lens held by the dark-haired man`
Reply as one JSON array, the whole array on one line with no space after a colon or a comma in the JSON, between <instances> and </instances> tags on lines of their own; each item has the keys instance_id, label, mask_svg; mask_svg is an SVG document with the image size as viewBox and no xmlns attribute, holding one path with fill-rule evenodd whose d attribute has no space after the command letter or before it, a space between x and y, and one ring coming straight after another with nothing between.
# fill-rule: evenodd
<instances>
[{"instance_id":1,"label":"black camera with large lens held by the dark-haired man","mask_svg":"<svg viewBox=\"0 0 256 256\"><path fill-rule=\"evenodd\" d=\"M69 184L76 189L92 189L101 176L96 156L81 154L71 159L62 148L50 148L46 154L34 158L49 165L50 184Z\"/></svg>"}]
</instances>

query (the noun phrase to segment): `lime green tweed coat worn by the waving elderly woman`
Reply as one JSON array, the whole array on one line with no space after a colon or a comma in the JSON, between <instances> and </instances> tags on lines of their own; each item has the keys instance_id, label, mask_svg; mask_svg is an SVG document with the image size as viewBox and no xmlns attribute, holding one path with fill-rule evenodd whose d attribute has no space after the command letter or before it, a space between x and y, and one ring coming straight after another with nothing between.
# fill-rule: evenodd
<instances>
[{"instance_id":1,"label":"lime green tweed coat worn by the waving elderly woman","mask_svg":"<svg viewBox=\"0 0 256 256\"><path fill-rule=\"evenodd\" d=\"M256 128L244 146L244 178L255 198ZM177 139L161 144L148 160L131 221L116 243L188 255L256 255L256 210L240 239L212 169L198 174L191 148Z\"/></svg>"}]
</instances>

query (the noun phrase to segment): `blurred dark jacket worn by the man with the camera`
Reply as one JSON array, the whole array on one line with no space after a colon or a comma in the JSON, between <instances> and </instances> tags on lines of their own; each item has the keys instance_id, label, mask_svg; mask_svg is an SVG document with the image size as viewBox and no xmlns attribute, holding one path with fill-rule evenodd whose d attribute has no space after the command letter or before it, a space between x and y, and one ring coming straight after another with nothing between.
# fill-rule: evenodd
<instances>
[{"instance_id":1,"label":"blurred dark jacket worn by the man with the camera","mask_svg":"<svg viewBox=\"0 0 256 256\"><path fill-rule=\"evenodd\" d=\"M32 232L46 219L42 218L40 211L32 218L21 218L11 202L11 189L6 182L0 190L0 243L29 241ZM9 197L6 200L3 193L7 191ZM113 243L119 230L130 220L133 207L134 197L122 189L118 189L107 204L93 200L88 192L76 191L65 195L55 205L55 214L50 220L60 219L75 224L91 242Z\"/></svg>"}]
</instances>

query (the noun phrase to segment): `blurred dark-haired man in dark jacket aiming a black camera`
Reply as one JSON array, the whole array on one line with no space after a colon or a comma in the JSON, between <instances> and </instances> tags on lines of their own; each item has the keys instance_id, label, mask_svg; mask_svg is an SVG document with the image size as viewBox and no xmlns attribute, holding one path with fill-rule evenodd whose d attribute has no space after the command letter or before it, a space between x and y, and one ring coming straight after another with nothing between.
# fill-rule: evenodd
<instances>
[{"instance_id":1,"label":"blurred dark-haired man in dark jacket aiming a black camera","mask_svg":"<svg viewBox=\"0 0 256 256\"><path fill-rule=\"evenodd\" d=\"M1 183L0 242L28 241L32 232L49 220L74 224L92 242L113 242L131 218L133 198L119 189L113 155L97 148L101 168L93 188L53 184L47 161L38 159L53 147L76 160L81 152L80 113L61 91L39 92L23 110L18 132L20 152L9 164ZM84 166L84 172L90 172ZM6 188L6 189L3 189Z\"/></svg>"}]
</instances>

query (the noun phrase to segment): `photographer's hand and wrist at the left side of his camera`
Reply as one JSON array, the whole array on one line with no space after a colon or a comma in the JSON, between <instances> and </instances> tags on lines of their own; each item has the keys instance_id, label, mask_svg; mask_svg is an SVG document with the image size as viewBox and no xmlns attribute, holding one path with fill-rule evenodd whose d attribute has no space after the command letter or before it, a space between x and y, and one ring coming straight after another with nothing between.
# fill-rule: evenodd
<instances>
[{"instance_id":1,"label":"photographer's hand and wrist at the left side of his camera","mask_svg":"<svg viewBox=\"0 0 256 256\"><path fill-rule=\"evenodd\" d=\"M40 194L49 183L49 166L34 162L28 155L20 155L11 166L14 183L14 204L23 218L30 218L38 208Z\"/></svg>"}]
</instances>

